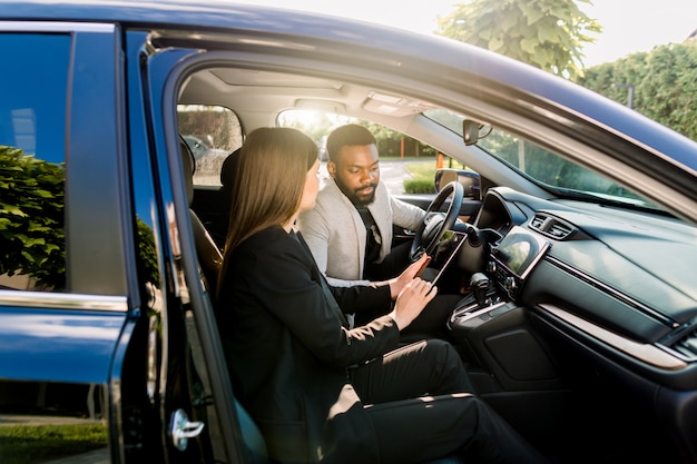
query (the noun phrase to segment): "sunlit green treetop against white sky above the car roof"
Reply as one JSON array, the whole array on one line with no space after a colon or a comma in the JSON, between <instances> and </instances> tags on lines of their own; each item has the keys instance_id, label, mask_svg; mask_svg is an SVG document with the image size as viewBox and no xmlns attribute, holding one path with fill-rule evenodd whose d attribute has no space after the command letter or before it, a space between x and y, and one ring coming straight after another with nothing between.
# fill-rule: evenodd
<instances>
[{"instance_id":1,"label":"sunlit green treetop against white sky above the car roof","mask_svg":"<svg viewBox=\"0 0 697 464\"><path fill-rule=\"evenodd\" d=\"M436 33L558 76L583 75L583 45L602 31L577 6L590 0L470 0L439 18Z\"/></svg>"}]
</instances>

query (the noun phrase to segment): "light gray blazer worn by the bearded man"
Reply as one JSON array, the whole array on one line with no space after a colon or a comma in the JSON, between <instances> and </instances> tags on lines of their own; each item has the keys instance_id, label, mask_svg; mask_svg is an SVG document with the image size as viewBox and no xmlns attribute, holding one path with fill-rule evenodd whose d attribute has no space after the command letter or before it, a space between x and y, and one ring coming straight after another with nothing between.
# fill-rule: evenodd
<instances>
[{"instance_id":1,"label":"light gray blazer worn by the bearded man","mask_svg":"<svg viewBox=\"0 0 697 464\"><path fill-rule=\"evenodd\" d=\"M392 225L415 230L425 214L416 206L392 198L382 180L375 189L375 200L367 209L382 237L380 261L390 254ZM365 225L334 179L324 181L315 207L301 214L297 225L317 267L331 285L347 287L369 284L361 278L365 259Z\"/></svg>"}]
</instances>

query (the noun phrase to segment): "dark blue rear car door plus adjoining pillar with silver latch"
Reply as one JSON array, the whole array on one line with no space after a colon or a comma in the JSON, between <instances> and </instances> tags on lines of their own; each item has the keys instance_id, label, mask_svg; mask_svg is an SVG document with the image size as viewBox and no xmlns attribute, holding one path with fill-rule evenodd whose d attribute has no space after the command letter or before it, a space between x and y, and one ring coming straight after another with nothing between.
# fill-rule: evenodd
<instances>
[{"instance_id":1,"label":"dark blue rear car door plus adjoining pillar with silver latch","mask_svg":"<svg viewBox=\"0 0 697 464\"><path fill-rule=\"evenodd\" d=\"M0 23L17 66L0 77L3 463L213 462L190 344L202 288L184 278L195 258L146 122L144 41L127 57L120 38L109 23Z\"/></svg>"}]
</instances>

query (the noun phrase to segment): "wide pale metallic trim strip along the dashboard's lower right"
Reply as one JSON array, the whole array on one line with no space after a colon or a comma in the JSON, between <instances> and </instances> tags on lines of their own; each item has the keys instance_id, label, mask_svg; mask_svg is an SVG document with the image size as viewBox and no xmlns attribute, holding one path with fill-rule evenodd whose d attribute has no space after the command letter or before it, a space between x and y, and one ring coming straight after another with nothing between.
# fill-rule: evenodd
<instances>
[{"instance_id":1,"label":"wide pale metallic trim strip along the dashboard's lower right","mask_svg":"<svg viewBox=\"0 0 697 464\"><path fill-rule=\"evenodd\" d=\"M651 366L656 366L667 371L679 371L687 367L687 363L678 359L675 356L671 356L670 354L654 345L637 343L627 337L622 337L621 335L618 335L586 319L582 319L556 305L542 303L539 305L539 307L548 313L551 313L565 323L580 329L581 332L610 345L611 347L636 359L650 364Z\"/></svg>"}]
</instances>

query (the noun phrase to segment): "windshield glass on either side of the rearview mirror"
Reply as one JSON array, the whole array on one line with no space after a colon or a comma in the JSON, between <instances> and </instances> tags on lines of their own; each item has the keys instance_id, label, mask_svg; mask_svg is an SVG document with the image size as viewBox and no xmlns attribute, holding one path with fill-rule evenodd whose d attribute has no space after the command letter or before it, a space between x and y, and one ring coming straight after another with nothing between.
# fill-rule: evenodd
<instances>
[{"instance_id":1,"label":"windshield glass on either side of the rearview mirror","mask_svg":"<svg viewBox=\"0 0 697 464\"><path fill-rule=\"evenodd\" d=\"M424 111L423 116L462 137L462 115L432 109ZM477 146L561 197L592 196L603 201L657 208L622 186L505 131L480 127Z\"/></svg>"}]
</instances>

